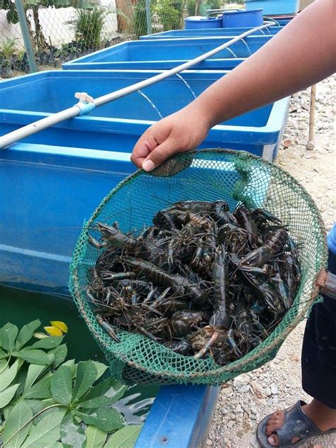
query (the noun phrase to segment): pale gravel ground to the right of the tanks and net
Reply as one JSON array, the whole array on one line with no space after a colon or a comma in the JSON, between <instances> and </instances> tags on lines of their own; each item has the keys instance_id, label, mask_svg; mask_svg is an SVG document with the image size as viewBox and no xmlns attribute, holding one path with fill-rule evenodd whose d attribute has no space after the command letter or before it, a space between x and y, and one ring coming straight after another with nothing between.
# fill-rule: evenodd
<instances>
[{"instance_id":1,"label":"pale gravel ground to the right of the tanks and net","mask_svg":"<svg viewBox=\"0 0 336 448\"><path fill-rule=\"evenodd\" d=\"M306 187L315 200L327 230L335 220L335 87L336 77L317 86L315 146L307 150L310 89L291 99L289 121L276 164ZM305 322L288 337L276 358L222 386L207 447L258 447L255 429L259 420L276 409L284 409L301 398L301 344ZM304 448L336 447L336 435L315 437Z\"/></svg>"}]
</instances>

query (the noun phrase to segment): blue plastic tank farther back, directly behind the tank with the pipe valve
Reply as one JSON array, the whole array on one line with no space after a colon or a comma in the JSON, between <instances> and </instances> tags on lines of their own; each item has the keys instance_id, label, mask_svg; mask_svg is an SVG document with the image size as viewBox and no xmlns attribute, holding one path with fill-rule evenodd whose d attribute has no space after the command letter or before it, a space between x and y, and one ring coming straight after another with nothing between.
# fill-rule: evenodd
<instances>
[{"instance_id":1,"label":"blue plastic tank farther back, directly behind the tank with the pipe valve","mask_svg":"<svg viewBox=\"0 0 336 448\"><path fill-rule=\"evenodd\" d=\"M195 69L227 70L259 50L271 35L249 35L230 48L195 65ZM131 40L66 62L63 69L171 69L231 40L231 37Z\"/></svg>"}]
</instances>

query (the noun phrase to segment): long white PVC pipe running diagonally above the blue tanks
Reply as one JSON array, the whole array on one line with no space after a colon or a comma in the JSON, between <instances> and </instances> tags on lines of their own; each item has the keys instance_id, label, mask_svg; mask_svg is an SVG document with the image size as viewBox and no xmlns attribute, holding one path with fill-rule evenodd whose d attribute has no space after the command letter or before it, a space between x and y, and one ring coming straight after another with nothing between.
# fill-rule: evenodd
<instances>
[{"instance_id":1,"label":"long white PVC pipe running diagonally above the blue tanks","mask_svg":"<svg viewBox=\"0 0 336 448\"><path fill-rule=\"evenodd\" d=\"M173 74L177 74L182 70L189 69L193 65L198 64L198 62L202 62L203 60L208 59L208 57L215 55L215 53L218 53L221 50L225 50L225 48L229 47L230 45L233 45L238 40L244 39L247 35L250 35L251 33L254 33L257 30L262 30L263 28L267 28L273 25L274 23L264 23L264 25L262 26L256 26L255 28L251 28L250 30L245 31L245 33L235 36L235 38L229 40L227 43L224 43L223 45L220 45L219 47L216 47L213 50L210 50L201 56L195 57L195 59L192 59L188 62L184 62L184 64L178 65L177 67L174 67L169 70L165 70L164 72L159 73L154 77L144 79L143 81L137 82L136 84L132 84L131 86L127 86L124 87L123 89L113 91L110 94L99 96L99 98L94 99L94 106L99 107L115 99L121 98L129 94L133 94L133 92L138 91L140 89L144 89L147 86L151 86L152 84L162 81L162 79L166 79L172 76ZM52 125L68 120L69 118L77 117L79 116L80 112L81 112L80 106L77 106L75 104L74 106L67 108L64 111L53 113L52 115L42 118L41 120L35 121L34 123L30 123L29 125L23 126L22 128L13 130L13 132L11 133L2 135L0 137L0 149L12 145L13 143L18 142L23 138L29 137L30 135L38 133L41 130L50 128L50 126Z\"/></svg>"}]
</instances>

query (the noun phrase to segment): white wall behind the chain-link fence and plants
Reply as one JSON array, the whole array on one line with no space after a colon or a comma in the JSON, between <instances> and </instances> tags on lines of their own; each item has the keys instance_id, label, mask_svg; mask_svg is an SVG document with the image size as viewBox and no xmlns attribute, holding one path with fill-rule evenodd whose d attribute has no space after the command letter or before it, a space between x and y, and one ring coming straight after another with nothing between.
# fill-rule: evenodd
<instances>
[{"instance_id":1,"label":"white wall behind the chain-link fence and plants","mask_svg":"<svg viewBox=\"0 0 336 448\"><path fill-rule=\"evenodd\" d=\"M103 37L108 38L112 36L118 30L116 13L116 1L115 0L101 0L101 6L106 6L108 11L112 11L106 16L106 23L103 28ZM28 16L32 14L28 10ZM47 39L47 43L52 43L55 47L62 45L63 43L71 42L73 39L72 30L66 22L71 20L74 16L73 8L43 8L39 9L40 23L43 28L43 34ZM18 49L23 48L23 40L21 36L20 25L12 25L7 22L6 11L0 9L0 47L1 44L6 42L6 39L17 40ZM1 50L1 48L0 48Z\"/></svg>"}]
</instances>

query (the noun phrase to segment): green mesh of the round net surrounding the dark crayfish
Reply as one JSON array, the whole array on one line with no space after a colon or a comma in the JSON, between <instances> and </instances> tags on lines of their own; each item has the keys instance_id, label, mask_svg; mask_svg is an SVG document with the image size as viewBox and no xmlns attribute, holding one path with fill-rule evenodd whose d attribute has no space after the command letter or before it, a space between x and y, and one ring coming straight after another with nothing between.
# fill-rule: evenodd
<instances>
[{"instance_id":1,"label":"green mesh of the round net surrounding the dark crayfish","mask_svg":"<svg viewBox=\"0 0 336 448\"><path fill-rule=\"evenodd\" d=\"M228 202L262 207L278 216L300 250L301 285L291 309L262 344L241 359L218 366L211 357L194 359L135 333L118 331L120 343L96 323L86 301L89 268L101 250L88 243L96 221L118 221L123 232L152 224L152 217L176 201ZM272 359L289 332L318 296L315 281L327 264L325 228L307 191L288 173L248 152L201 150L177 155L152 173L136 172L111 191L84 225L70 267L70 289L80 313L111 365L113 376L137 383L220 384Z\"/></svg>"}]
</instances>

